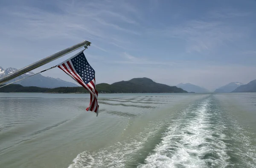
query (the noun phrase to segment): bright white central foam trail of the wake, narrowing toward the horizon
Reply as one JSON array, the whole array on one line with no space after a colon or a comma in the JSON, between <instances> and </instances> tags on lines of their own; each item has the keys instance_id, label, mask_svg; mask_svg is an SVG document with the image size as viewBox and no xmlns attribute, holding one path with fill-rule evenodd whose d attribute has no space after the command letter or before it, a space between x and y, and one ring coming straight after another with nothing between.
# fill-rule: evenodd
<instances>
[{"instance_id":1,"label":"bright white central foam trail of the wake, narrowing toward the horizon","mask_svg":"<svg viewBox=\"0 0 256 168\"><path fill-rule=\"evenodd\" d=\"M180 114L180 119L173 122L162 138L160 144L149 155L140 168L202 168L207 166L225 167L229 156L221 133L224 128L214 125L210 128L210 117L207 112L209 100L192 110L191 107ZM212 112L214 113L214 112ZM213 136L216 135L216 136Z\"/></svg>"}]
</instances>

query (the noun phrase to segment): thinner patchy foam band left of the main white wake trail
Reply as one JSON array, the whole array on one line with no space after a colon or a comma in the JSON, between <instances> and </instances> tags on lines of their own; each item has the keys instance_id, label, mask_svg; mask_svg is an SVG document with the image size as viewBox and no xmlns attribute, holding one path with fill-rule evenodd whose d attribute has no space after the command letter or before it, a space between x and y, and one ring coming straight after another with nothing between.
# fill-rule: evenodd
<instances>
[{"instance_id":1,"label":"thinner patchy foam band left of the main white wake trail","mask_svg":"<svg viewBox=\"0 0 256 168\"><path fill-rule=\"evenodd\" d=\"M126 162L136 154L147 140L157 132L156 124L149 125L144 131L125 141L117 142L98 151L84 151L79 154L68 168L124 168Z\"/></svg>"}]
</instances>

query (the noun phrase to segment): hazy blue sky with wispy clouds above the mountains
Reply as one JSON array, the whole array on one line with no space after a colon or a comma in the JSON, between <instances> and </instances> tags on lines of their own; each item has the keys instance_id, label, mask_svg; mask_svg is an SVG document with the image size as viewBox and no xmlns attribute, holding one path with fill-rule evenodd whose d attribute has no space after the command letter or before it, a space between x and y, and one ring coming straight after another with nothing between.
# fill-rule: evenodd
<instances>
[{"instance_id":1,"label":"hazy blue sky with wispy clouds above the mountains","mask_svg":"<svg viewBox=\"0 0 256 168\"><path fill-rule=\"evenodd\" d=\"M86 40L98 84L147 77L215 90L256 79L255 20L256 0L0 0L0 66L20 69ZM42 75L75 82L58 68Z\"/></svg>"}]
</instances>

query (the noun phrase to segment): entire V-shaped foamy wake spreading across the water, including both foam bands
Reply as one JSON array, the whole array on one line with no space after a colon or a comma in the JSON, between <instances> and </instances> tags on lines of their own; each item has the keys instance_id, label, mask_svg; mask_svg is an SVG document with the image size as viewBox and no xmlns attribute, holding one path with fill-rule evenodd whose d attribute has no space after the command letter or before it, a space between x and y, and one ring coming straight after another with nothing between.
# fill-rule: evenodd
<instances>
[{"instance_id":1,"label":"entire V-shaped foamy wake spreading across the water, including both foam bands","mask_svg":"<svg viewBox=\"0 0 256 168\"><path fill-rule=\"evenodd\" d=\"M252 168L256 149L250 146L244 129L228 115L213 96L207 96L128 136L130 132L125 131L131 131L133 116L127 114L124 140L82 152L69 168Z\"/></svg>"}]
</instances>

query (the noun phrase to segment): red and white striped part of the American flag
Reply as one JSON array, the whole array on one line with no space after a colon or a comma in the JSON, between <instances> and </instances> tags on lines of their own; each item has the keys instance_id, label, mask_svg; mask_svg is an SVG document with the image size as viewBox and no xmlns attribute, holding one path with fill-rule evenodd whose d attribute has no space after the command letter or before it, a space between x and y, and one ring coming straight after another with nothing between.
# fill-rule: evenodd
<instances>
[{"instance_id":1,"label":"red and white striped part of the American flag","mask_svg":"<svg viewBox=\"0 0 256 168\"><path fill-rule=\"evenodd\" d=\"M85 89L87 89L90 92L90 104L86 110L93 111L96 113L96 116L98 116L99 104L98 104L98 92L95 88L95 78L92 81L90 81L88 84L85 84L81 76L76 72L70 60L58 65L58 68L63 70L67 75L69 75L71 78L73 78L75 81L77 81L79 84L81 84Z\"/></svg>"}]
</instances>

